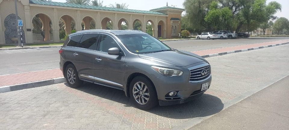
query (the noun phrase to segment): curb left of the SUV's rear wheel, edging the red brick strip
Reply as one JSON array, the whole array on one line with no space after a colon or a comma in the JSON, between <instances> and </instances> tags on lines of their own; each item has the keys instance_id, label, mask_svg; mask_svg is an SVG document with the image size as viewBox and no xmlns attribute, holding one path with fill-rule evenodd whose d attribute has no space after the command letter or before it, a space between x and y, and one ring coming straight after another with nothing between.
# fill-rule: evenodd
<instances>
[{"instance_id":1,"label":"curb left of the SUV's rear wheel, edging the red brick strip","mask_svg":"<svg viewBox=\"0 0 289 130\"><path fill-rule=\"evenodd\" d=\"M0 93L22 90L22 89L27 89L27 88L36 88L36 87L63 83L63 82L66 82L66 79L64 77L60 77L60 78L46 79L46 80L41 80L41 81L26 82L26 83L21 83L21 84L16 84L16 85L7 85L7 86L0 87Z\"/></svg>"}]
</instances>

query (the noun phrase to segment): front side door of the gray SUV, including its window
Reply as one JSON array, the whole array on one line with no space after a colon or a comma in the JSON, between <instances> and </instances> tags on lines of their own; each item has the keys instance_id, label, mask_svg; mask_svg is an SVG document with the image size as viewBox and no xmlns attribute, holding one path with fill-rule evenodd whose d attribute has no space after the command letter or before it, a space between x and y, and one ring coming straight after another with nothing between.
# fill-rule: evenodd
<instances>
[{"instance_id":1,"label":"front side door of the gray SUV, including its window","mask_svg":"<svg viewBox=\"0 0 289 130\"><path fill-rule=\"evenodd\" d=\"M123 88L125 56L109 55L109 48L120 48L116 40L106 34L100 34L95 57L95 77L98 82Z\"/></svg>"}]
</instances>

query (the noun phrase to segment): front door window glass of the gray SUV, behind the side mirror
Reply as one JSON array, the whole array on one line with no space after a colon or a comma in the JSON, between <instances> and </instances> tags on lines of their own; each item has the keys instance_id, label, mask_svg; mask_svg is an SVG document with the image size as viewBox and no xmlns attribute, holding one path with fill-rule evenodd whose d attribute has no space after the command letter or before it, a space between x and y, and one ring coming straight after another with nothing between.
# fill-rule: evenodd
<instances>
[{"instance_id":1,"label":"front door window glass of the gray SUV, behind the side mirror","mask_svg":"<svg viewBox=\"0 0 289 130\"><path fill-rule=\"evenodd\" d=\"M98 45L98 50L102 52L107 52L109 48L120 48L117 45L117 42L114 41L114 39L108 35L101 34L99 37L99 45Z\"/></svg>"}]
</instances>

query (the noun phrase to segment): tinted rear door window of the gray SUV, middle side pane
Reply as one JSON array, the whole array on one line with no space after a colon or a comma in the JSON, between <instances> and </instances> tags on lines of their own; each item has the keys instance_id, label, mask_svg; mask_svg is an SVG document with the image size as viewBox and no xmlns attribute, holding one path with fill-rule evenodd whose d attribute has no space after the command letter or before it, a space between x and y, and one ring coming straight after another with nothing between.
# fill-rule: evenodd
<instances>
[{"instance_id":1,"label":"tinted rear door window of the gray SUV, middle side pane","mask_svg":"<svg viewBox=\"0 0 289 130\"><path fill-rule=\"evenodd\" d=\"M84 34L79 42L80 48L95 50L96 39L98 34Z\"/></svg>"}]
</instances>

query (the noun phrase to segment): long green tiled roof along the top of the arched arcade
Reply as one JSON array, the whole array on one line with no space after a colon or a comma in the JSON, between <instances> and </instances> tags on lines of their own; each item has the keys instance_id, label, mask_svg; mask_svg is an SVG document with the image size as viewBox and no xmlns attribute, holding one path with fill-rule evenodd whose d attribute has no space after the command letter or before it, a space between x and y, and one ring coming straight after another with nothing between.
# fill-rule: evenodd
<instances>
[{"instance_id":1,"label":"long green tiled roof along the top of the arched arcade","mask_svg":"<svg viewBox=\"0 0 289 130\"><path fill-rule=\"evenodd\" d=\"M110 7L79 5L79 4L70 4L70 3L61 3L61 2L49 2L49 1L39 1L39 0L29 0L29 3L30 4L36 4L36 5L51 5L51 6L72 7L72 8L86 8L86 9L105 10L105 11L119 11L119 12L129 12L129 13L166 15L166 14L163 14L163 13L160 13L160 12L156 12L156 11L141 11L141 10L132 10L132 9L110 8Z\"/></svg>"}]
</instances>

